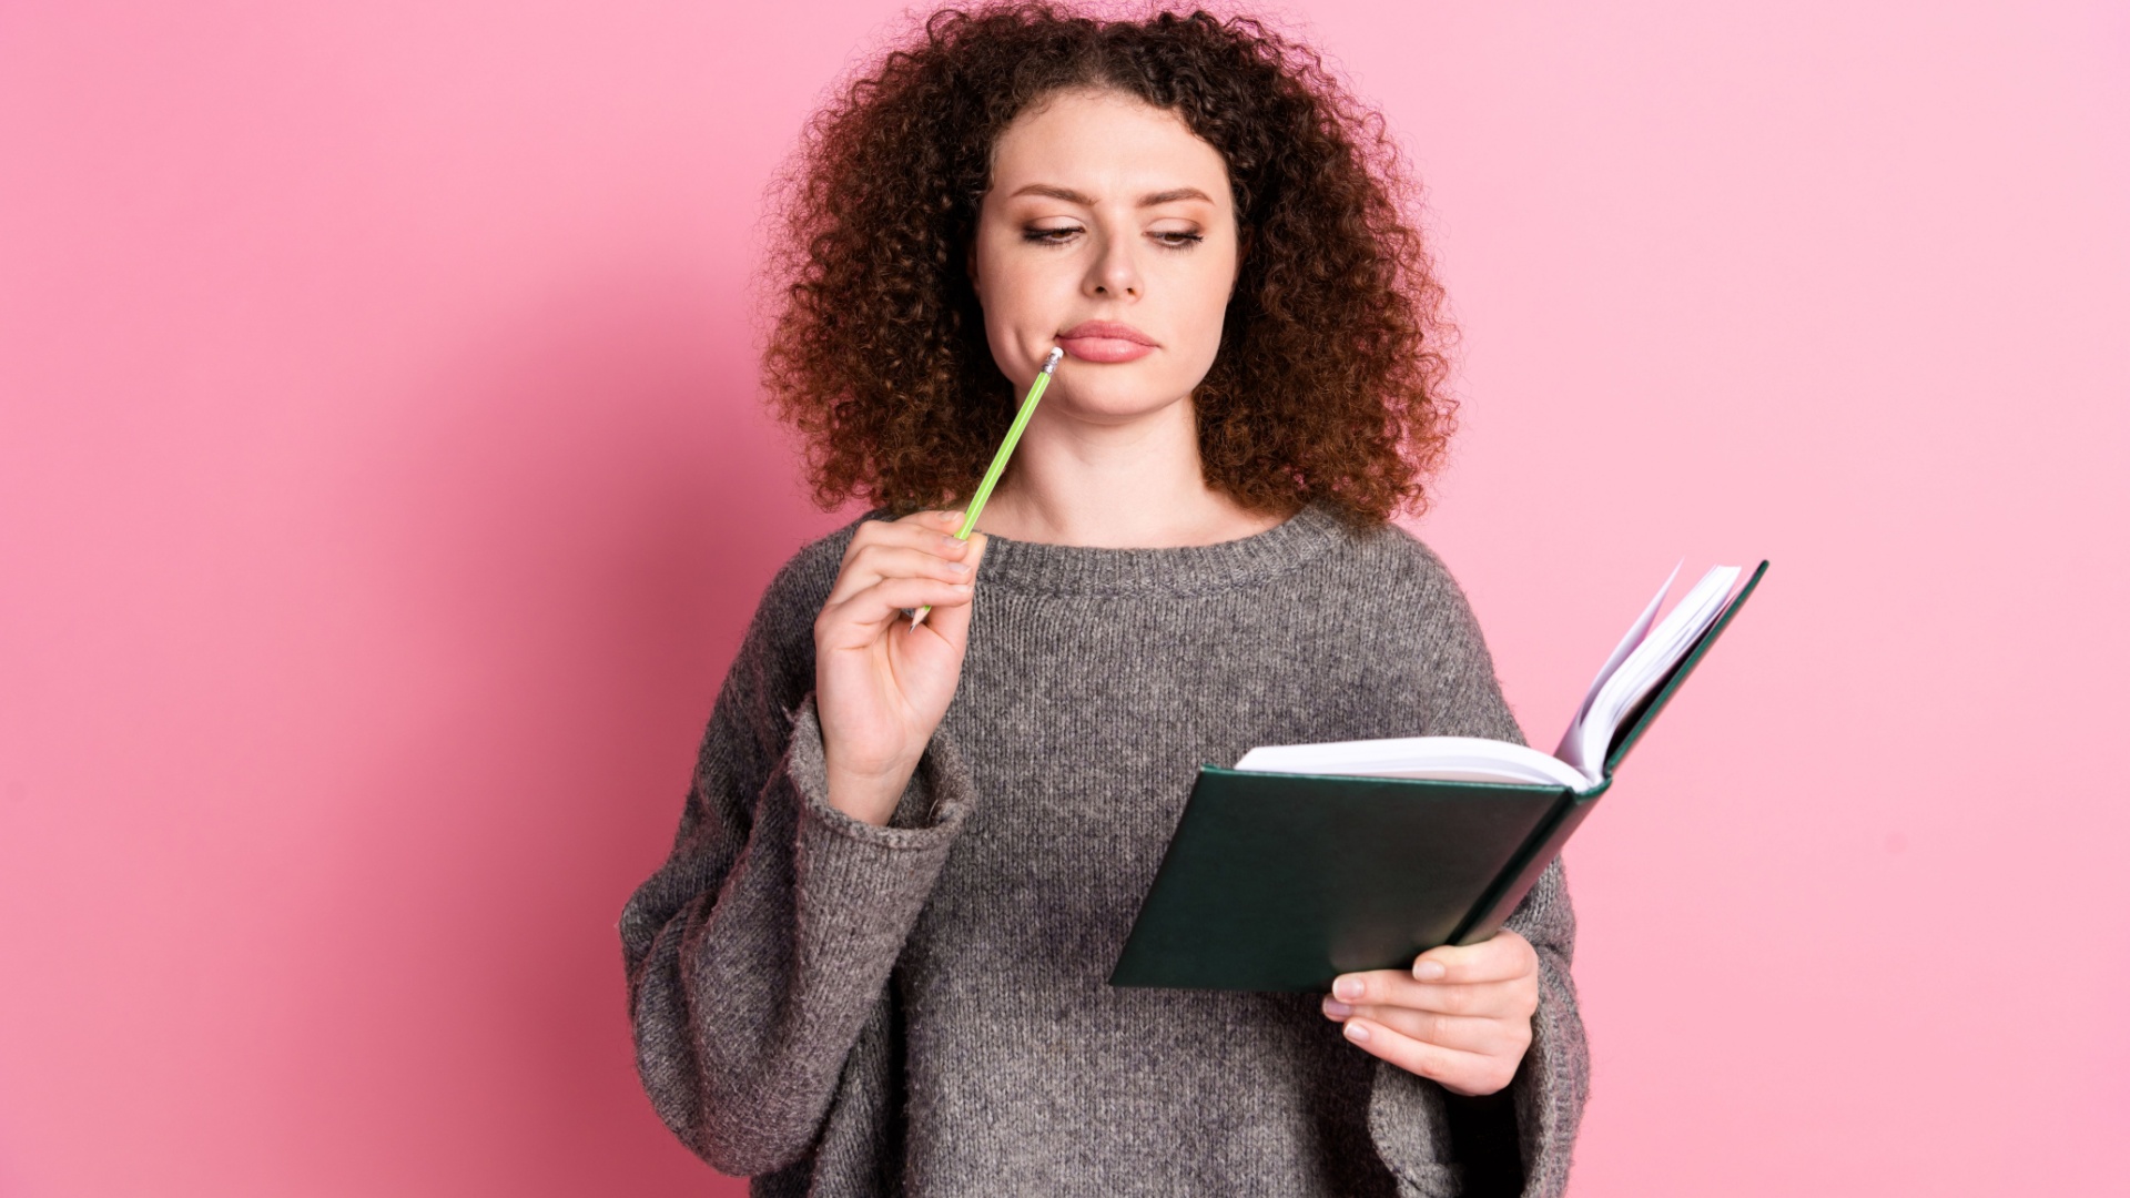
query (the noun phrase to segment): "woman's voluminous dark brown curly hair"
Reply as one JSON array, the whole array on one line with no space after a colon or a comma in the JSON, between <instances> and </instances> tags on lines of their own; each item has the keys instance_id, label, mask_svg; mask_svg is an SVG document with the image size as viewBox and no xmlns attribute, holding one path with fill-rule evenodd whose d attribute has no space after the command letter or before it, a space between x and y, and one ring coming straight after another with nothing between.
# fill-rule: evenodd
<instances>
[{"instance_id":1,"label":"woman's voluminous dark brown curly hair","mask_svg":"<svg viewBox=\"0 0 2130 1198\"><path fill-rule=\"evenodd\" d=\"M1193 392L1206 484L1252 512L1419 512L1453 426L1451 328L1380 113L1259 19L1048 2L933 13L814 115L780 175L765 386L814 497L910 512L973 490L1018 396L967 247L993 141L1067 87L1174 111L1227 162L1246 254Z\"/></svg>"}]
</instances>

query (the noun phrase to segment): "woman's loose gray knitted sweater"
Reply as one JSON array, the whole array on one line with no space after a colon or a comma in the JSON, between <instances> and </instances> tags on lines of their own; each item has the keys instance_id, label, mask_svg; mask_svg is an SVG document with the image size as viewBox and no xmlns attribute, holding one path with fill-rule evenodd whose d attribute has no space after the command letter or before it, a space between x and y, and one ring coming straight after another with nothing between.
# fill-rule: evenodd
<instances>
[{"instance_id":1,"label":"woman's loose gray knitted sweater","mask_svg":"<svg viewBox=\"0 0 2130 1198\"><path fill-rule=\"evenodd\" d=\"M1321 995L1105 983L1201 763L1523 740L1442 563L1321 507L1197 548L993 537L961 689L875 827L826 802L812 697L852 529L769 584L622 912L665 1123L756 1196L1459 1194L1461 1100ZM1500 1106L1525 1194L1553 1196L1589 1074L1559 861L1508 925L1540 1002Z\"/></svg>"}]
</instances>

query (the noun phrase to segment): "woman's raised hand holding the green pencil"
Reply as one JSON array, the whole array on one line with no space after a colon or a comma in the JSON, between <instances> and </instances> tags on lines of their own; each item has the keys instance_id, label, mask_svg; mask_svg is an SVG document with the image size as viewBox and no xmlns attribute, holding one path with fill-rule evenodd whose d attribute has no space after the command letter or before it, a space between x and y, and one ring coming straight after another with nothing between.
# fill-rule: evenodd
<instances>
[{"instance_id":1,"label":"woman's raised hand holding the green pencil","mask_svg":"<svg viewBox=\"0 0 2130 1198\"><path fill-rule=\"evenodd\" d=\"M814 620L829 804L871 825L895 814L961 682L984 537L956 541L958 527L961 512L858 524ZM903 608L927 603L931 614L912 627Z\"/></svg>"}]
</instances>

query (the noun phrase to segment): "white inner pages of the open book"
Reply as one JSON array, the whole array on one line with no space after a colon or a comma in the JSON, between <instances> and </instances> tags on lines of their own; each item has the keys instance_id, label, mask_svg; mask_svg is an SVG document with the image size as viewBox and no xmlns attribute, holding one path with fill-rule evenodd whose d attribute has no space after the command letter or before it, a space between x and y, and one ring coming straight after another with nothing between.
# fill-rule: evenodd
<instances>
[{"instance_id":1,"label":"white inner pages of the open book","mask_svg":"<svg viewBox=\"0 0 2130 1198\"><path fill-rule=\"evenodd\" d=\"M1730 605L1740 567L1719 565L1702 576L1659 622L1657 608L1672 590L1678 567L1657 588L1642 616L1621 637L1604 669L1568 721L1553 757L1506 740L1470 735L1408 735L1393 740L1340 740L1252 748L1235 770L1263 774L1359 774L1370 778L1442 778L1451 782L1544 784L1587 791L1604 782L1612 738L1700 644L1702 633Z\"/></svg>"}]
</instances>

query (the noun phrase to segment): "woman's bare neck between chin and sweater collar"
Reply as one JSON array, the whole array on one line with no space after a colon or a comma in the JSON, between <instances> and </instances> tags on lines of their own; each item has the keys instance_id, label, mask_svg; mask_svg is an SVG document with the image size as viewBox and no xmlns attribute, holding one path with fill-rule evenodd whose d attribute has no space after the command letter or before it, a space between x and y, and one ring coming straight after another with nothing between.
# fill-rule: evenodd
<instances>
[{"instance_id":1,"label":"woman's bare neck between chin and sweater collar","mask_svg":"<svg viewBox=\"0 0 2130 1198\"><path fill-rule=\"evenodd\" d=\"M1101 548L1210 546L1284 516L1250 512L1206 486L1189 399L1129 422L1037 407L978 531Z\"/></svg>"}]
</instances>

